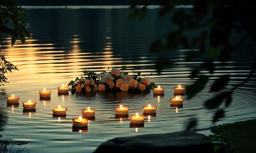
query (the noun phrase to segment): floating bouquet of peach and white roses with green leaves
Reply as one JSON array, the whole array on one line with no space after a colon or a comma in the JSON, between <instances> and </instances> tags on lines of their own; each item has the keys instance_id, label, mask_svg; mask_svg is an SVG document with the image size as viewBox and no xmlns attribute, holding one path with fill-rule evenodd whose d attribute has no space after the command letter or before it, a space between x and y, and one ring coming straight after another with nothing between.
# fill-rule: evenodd
<instances>
[{"instance_id":1,"label":"floating bouquet of peach and white roses with green leaves","mask_svg":"<svg viewBox=\"0 0 256 153\"><path fill-rule=\"evenodd\" d=\"M111 71L102 71L97 74L93 71L83 71L84 77L77 77L76 80L69 82L68 87L71 92L93 92L93 91L126 91L126 92L150 92L156 85L150 82L148 77L129 75L125 72L126 66L121 70L113 68Z\"/></svg>"}]
</instances>

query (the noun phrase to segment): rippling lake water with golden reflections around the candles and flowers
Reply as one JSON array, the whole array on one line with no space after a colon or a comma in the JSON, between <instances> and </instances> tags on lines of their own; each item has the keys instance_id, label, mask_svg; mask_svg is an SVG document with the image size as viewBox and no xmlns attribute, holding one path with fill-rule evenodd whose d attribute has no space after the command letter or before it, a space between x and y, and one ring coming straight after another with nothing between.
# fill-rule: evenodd
<instances>
[{"instance_id":1,"label":"rippling lake water with golden reflections around the candles and flowers","mask_svg":"<svg viewBox=\"0 0 256 153\"><path fill-rule=\"evenodd\" d=\"M21 152L93 152L100 143L115 137L182 131L193 117L198 119L196 132L209 135L210 126L256 116L255 76L236 89L225 118L216 124L211 122L215 110L204 108L204 101L212 96L209 87L192 99L184 96L183 108L170 106L173 87L192 84L195 80L189 78L189 73L203 59L183 62L188 50L162 54L173 62L173 68L157 75L154 63L159 54L148 54L148 46L171 27L168 17L157 17L157 8L148 10L143 22L127 20L129 10L124 7L27 7L26 11L32 20L28 26L34 38L25 44L17 41L14 47L10 40L4 41L3 54L19 71L8 73L10 83L0 88L0 114L4 119L1 135L4 139L26 142ZM253 62L253 56L248 55L251 53L244 52L236 52L225 68L218 67L209 84L223 74L232 75L228 87L241 82L250 73ZM83 70L99 72L123 65L130 74L152 72L150 81L164 87L164 96L154 96L153 92L58 95L57 87L80 77ZM44 88L51 90L49 101L40 101L39 91ZM6 97L11 94L20 97L18 107L6 106ZM22 102L28 99L37 102L36 112L31 114L24 113L22 108ZM115 107L120 104L129 106L129 114L133 114L142 113L148 103L157 106L157 113L145 117L143 128L130 128L129 118L115 117ZM52 117L52 108L58 105L67 107L67 117ZM82 109L88 106L97 111L95 120L88 124L88 131L72 131L72 118L81 115Z\"/></svg>"}]
</instances>

